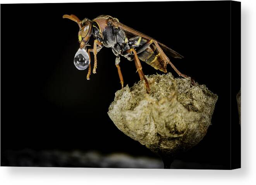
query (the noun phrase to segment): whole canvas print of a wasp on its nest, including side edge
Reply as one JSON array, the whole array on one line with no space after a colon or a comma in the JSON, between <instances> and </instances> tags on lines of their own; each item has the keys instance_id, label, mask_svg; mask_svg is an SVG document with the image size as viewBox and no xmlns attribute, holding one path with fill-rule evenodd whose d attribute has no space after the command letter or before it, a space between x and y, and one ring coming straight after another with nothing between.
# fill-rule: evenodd
<instances>
[{"instance_id":1,"label":"whole canvas print of a wasp on its nest, including side edge","mask_svg":"<svg viewBox=\"0 0 256 185\"><path fill-rule=\"evenodd\" d=\"M240 168L240 12L1 4L1 166Z\"/></svg>"}]
</instances>

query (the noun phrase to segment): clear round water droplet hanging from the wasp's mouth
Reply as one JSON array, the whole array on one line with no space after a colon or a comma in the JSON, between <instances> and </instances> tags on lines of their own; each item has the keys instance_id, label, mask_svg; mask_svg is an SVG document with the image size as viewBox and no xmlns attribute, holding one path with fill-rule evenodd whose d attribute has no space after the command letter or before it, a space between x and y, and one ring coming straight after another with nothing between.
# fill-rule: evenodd
<instances>
[{"instance_id":1,"label":"clear round water droplet hanging from the wasp's mouth","mask_svg":"<svg viewBox=\"0 0 256 185\"><path fill-rule=\"evenodd\" d=\"M78 49L74 58L74 64L77 69L85 70L89 66L89 55L85 49Z\"/></svg>"}]
</instances>

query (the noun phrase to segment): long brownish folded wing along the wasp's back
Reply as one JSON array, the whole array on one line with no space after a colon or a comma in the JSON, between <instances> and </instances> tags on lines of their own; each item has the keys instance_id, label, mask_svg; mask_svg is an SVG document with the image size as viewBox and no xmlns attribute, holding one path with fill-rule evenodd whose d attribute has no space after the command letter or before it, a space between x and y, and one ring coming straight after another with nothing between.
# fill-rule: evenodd
<instances>
[{"instance_id":1,"label":"long brownish folded wing along the wasp's back","mask_svg":"<svg viewBox=\"0 0 256 185\"><path fill-rule=\"evenodd\" d=\"M148 39L148 40L151 40L153 38L129 27L129 26L126 26L120 22L113 22L113 25L114 26L117 26L121 29L123 29L125 31L125 33L128 33L129 36L140 36L140 37L143 37L145 39ZM167 46L165 46L164 44L158 42L156 39L153 39L155 40L159 45L160 47L162 48L162 50L167 54L167 55L170 55L171 57L173 58L183 58L182 55L180 55L179 53L177 53L176 51L172 50L171 48L168 48Z\"/></svg>"}]
</instances>

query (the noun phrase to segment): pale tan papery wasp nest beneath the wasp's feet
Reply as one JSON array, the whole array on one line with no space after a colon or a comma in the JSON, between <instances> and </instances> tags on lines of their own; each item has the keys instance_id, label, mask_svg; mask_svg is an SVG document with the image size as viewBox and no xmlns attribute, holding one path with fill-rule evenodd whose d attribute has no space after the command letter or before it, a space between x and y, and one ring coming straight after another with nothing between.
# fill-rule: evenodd
<instances>
[{"instance_id":1,"label":"pale tan papery wasp nest beneath the wasp's feet","mask_svg":"<svg viewBox=\"0 0 256 185\"><path fill-rule=\"evenodd\" d=\"M161 156L175 156L198 144L211 124L218 99L205 85L174 79L172 74L147 77L115 93L108 115L117 128Z\"/></svg>"}]
</instances>

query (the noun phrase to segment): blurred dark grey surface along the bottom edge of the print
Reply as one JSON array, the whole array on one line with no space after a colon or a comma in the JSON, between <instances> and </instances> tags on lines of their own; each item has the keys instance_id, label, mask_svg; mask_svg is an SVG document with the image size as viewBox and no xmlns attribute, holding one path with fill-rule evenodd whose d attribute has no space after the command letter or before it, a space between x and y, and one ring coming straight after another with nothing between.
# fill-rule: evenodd
<instances>
[{"instance_id":1,"label":"blurred dark grey surface along the bottom edge of the print","mask_svg":"<svg viewBox=\"0 0 256 185\"><path fill-rule=\"evenodd\" d=\"M77 167L77 168L163 168L160 158L134 157L124 153L97 151L6 151L1 166ZM222 169L221 165L190 163L175 159L171 169Z\"/></svg>"}]
</instances>

